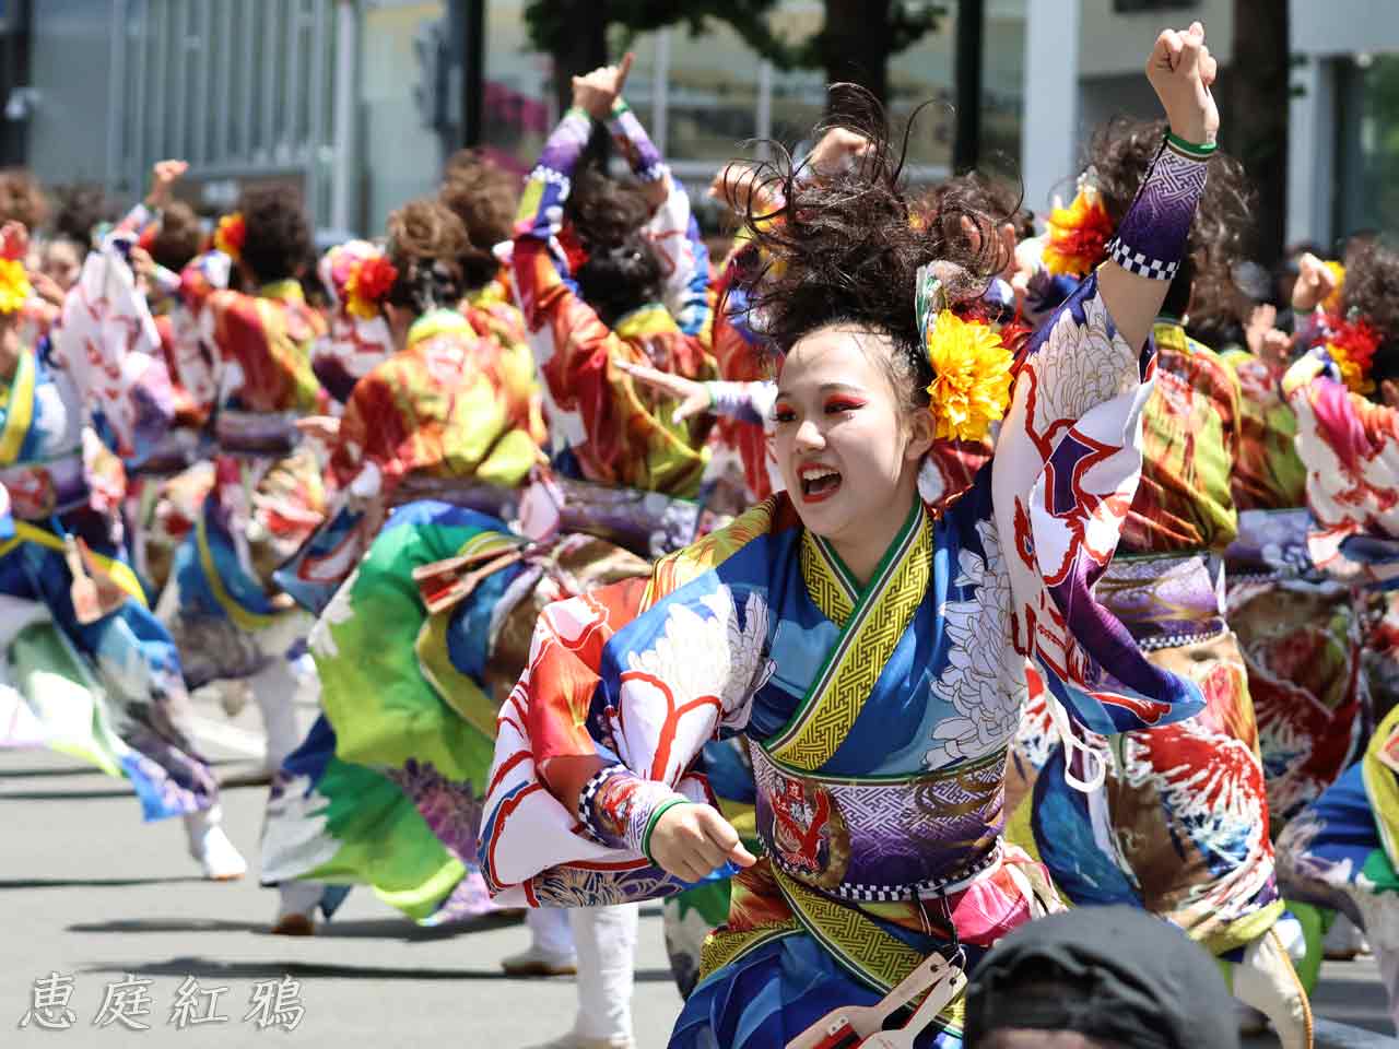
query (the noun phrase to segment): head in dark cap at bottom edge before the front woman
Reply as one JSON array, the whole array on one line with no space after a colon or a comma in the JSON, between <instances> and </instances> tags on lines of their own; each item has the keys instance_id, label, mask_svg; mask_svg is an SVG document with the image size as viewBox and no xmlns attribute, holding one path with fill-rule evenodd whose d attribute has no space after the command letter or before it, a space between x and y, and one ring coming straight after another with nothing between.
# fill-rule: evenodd
<instances>
[{"instance_id":1,"label":"head in dark cap at bottom edge before the front woman","mask_svg":"<svg viewBox=\"0 0 1399 1049\"><path fill-rule=\"evenodd\" d=\"M967 987L967 1049L1234 1049L1219 965L1160 918L1084 906L997 943Z\"/></svg>"}]
</instances>

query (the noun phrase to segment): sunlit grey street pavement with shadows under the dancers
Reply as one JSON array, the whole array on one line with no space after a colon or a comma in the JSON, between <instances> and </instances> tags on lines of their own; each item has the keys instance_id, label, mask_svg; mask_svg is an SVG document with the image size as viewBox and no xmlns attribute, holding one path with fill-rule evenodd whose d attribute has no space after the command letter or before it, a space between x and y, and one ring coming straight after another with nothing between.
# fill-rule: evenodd
<instances>
[{"instance_id":1,"label":"sunlit grey street pavement with shadows under the dancers","mask_svg":"<svg viewBox=\"0 0 1399 1049\"><path fill-rule=\"evenodd\" d=\"M253 768L257 719L228 719L199 704L201 738L222 779ZM301 711L309 723L311 708ZM375 1045L520 1049L569 1027L568 979L505 978L502 957L520 950L520 923L425 930L357 890L336 920L311 939L266 933L274 894L257 887L256 856L266 787L225 790L225 825L253 870L231 884L206 883L172 821L143 825L122 780L48 752L0 751L0 1046ZM36 979L73 978L67 1031L20 1029ZM148 1031L94 1027L106 985L150 980ZM227 987L208 1022L169 1024L176 990ZM243 1021L257 985L290 976L304 1014L295 1031ZM203 999L201 1008L208 999ZM1399 1045L1372 961L1328 964L1315 997L1319 1046ZM666 1043L680 1008L662 944L660 911L644 908L634 1017L641 1049ZM206 1015L196 1011L193 1015ZM1274 1046L1272 1038L1251 1046Z\"/></svg>"}]
</instances>

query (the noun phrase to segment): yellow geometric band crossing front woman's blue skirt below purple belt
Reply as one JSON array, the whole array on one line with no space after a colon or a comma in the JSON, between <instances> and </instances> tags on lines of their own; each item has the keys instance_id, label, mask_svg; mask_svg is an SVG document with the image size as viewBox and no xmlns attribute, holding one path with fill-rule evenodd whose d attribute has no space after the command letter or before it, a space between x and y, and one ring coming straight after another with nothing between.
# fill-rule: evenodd
<instances>
[{"instance_id":1,"label":"yellow geometric band crossing front woman's blue skirt below purple belt","mask_svg":"<svg viewBox=\"0 0 1399 1049\"><path fill-rule=\"evenodd\" d=\"M923 957L902 940L880 929L859 909L837 904L793 881L776 867L772 869L778 888L792 913L852 976L881 994L887 994L908 973L918 968ZM963 996L937 1014L937 1022L953 1034L961 1034L967 1006Z\"/></svg>"}]
</instances>

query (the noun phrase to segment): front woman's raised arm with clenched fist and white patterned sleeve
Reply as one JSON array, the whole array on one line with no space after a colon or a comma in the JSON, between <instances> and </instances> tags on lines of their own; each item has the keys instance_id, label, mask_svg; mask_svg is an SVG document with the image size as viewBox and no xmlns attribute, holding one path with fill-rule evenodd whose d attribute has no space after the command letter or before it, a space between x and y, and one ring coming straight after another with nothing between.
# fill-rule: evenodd
<instances>
[{"instance_id":1,"label":"front woman's raised arm with clenched fist and white patterned sleeve","mask_svg":"<svg viewBox=\"0 0 1399 1049\"><path fill-rule=\"evenodd\" d=\"M1161 35L1149 77L1177 134L1213 140L1213 62L1198 24ZM1016 646L1046 673L1062 706L1102 734L1177 720L1202 702L1192 685L1146 662L1093 585L1112 559L1140 478L1140 418L1156 366L1147 334L1203 186L1205 161L1163 144L1111 245L1115 262L1037 331L992 466Z\"/></svg>"}]
</instances>

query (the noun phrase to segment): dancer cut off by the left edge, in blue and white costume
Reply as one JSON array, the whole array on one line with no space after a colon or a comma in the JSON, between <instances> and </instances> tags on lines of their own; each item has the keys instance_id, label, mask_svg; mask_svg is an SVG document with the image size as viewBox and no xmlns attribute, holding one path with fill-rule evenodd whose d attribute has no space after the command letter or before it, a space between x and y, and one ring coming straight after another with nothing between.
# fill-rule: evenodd
<instances>
[{"instance_id":1,"label":"dancer cut off by the left edge, in blue and white costume","mask_svg":"<svg viewBox=\"0 0 1399 1049\"><path fill-rule=\"evenodd\" d=\"M24 660L13 663L20 678L13 688L0 687L0 701L18 705L4 719L10 730L3 743L52 745L125 775L147 820L183 817L206 877L241 877L246 864L222 831L217 782L192 743L180 655L122 558L120 485L92 473L101 443L87 429L78 385L60 366L62 355L48 338L34 344L21 336L29 297L24 228L7 225L0 245L0 490L8 504L0 620L8 645L34 621L34 603L46 606L64 648L71 646L67 656L63 649L50 653L59 666L67 660L70 674L28 680ZM148 450L173 415L154 326L112 243L88 263L70 312L90 313L98 298L106 302L113 329L105 334L120 333L115 341L126 365L118 369L120 380L108 383L115 390L105 403L106 425L125 450ZM95 276L102 278L90 287ZM73 334L74 324L62 333ZM87 364L81 343L70 344L67 357ZM60 688L60 676L81 687ZM45 684L35 688L35 681ZM73 713L78 702L91 704L83 716ZM15 738L25 725L29 738Z\"/></svg>"}]
</instances>

